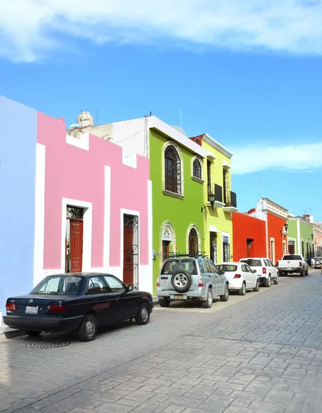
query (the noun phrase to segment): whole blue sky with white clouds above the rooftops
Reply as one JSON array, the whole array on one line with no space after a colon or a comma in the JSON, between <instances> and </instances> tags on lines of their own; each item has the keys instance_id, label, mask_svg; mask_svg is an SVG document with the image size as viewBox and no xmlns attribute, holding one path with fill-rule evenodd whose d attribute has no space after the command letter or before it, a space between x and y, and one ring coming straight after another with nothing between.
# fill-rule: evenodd
<instances>
[{"instance_id":1,"label":"whole blue sky with white clouds above the rooftops","mask_svg":"<svg viewBox=\"0 0 322 413\"><path fill-rule=\"evenodd\" d=\"M322 1L11 3L0 94L68 125L97 108L99 123L153 110L179 125L181 104L188 136L234 153L241 211L261 193L322 220Z\"/></svg>"}]
</instances>

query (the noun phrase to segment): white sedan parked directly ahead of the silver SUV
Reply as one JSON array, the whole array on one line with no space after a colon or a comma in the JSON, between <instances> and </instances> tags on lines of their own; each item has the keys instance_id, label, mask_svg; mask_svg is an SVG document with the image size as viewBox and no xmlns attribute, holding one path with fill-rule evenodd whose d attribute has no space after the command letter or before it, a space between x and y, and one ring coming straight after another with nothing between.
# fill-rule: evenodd
<instances>
[{"instance_id":1,"label":"white sedan parked directly ahead of the silver SUV","mask_svg":"<svg viewBox=\"0 0 322 413\"><path fill-rule=\"evenodd\" d=\"M245 295L246 290L259 290L259 277L248 264L243 262L221 262L216 266L219 270L225 271L230 290L237 290L239 295Z\"/></svg>"}]
</instances>

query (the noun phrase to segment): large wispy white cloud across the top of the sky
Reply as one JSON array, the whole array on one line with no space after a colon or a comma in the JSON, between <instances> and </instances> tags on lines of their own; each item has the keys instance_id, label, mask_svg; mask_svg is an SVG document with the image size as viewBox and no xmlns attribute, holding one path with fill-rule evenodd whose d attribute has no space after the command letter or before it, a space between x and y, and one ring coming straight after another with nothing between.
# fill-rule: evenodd
<instances>
[{"instance_id":1,"label":"large wispy white cloud across the top of the sky","mask_svg":"<svg viewBox=\"0 0 322 413\"><path fill-rule=\"evenodd\" d=\"M0 0L0 56L37 61L94 42L185 41L322 54L322 0Z\"/></svg>"}]
</instances>

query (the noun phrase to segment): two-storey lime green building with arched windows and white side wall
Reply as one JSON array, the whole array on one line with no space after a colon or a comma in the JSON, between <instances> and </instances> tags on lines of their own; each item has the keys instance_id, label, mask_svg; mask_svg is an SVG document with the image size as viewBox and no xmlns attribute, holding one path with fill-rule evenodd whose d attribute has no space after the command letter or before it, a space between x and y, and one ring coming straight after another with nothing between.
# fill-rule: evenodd
<instances>
[{"instance_id":1,"label":"two-storey lime green building with arched windows and white side wall","mask_svg":"<svg viewBox=\"0 0 322 413\"><path fill-rule=\"evenodd\" d=\"M86 115L87 118L88 115ZM170 253L205 251L203 240L203 160L205 149L178 127L155 116L98 126L79 126L70 134L92 131L123 148L125 157L150 159L152 181L153 291L163 261Z\"/></svg>"}]
</instances>

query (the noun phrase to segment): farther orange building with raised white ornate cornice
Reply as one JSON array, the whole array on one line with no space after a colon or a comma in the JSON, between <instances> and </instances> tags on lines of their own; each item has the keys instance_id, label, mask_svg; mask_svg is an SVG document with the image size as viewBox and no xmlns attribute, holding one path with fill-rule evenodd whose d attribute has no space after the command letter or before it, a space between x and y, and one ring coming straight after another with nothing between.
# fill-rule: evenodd
<instances>
[{"instance_id":1,"label":"farther orange building with raised white ornate cornice","mask_svg":"<svg viewBox=\"0 0 322 413\"><path fill-rule=\"evenodd\" d=\"M288 210L269 198L260 198L248 215L265 221L265 256L276 264L288 252Z\"/></svg>"}]
</instances>

